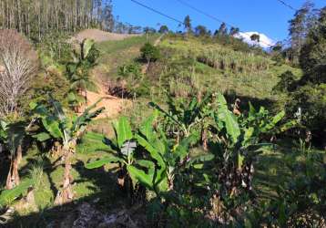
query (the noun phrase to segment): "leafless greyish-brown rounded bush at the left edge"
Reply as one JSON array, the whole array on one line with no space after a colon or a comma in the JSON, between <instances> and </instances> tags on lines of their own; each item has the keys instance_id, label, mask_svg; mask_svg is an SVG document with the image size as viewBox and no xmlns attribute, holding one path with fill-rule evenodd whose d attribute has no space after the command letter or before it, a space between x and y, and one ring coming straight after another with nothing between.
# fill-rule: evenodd
<instances>
[{"instance_id":1,"label":"leafless greyish-brown rounded bush at the left edge","mask_svg":"<svg viewBox=\"0 0 326 228\"><path fill-rule=\"evenodd\" d=\"M37 55L15 30L0 30L0 117L17 113L37 69ZM5 67L3 67L5 66Z\"/></svg>"}]
</instances>

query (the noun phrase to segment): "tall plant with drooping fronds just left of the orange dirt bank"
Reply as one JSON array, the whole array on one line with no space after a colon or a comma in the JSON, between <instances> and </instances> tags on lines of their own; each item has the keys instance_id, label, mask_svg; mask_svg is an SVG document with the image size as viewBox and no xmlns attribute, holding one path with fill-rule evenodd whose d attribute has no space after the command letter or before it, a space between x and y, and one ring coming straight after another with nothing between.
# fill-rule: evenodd
<instances>
[{"instance_id":1,"label":"tall plant with drooping fronds just left of the orange dirt bank","mask_svg":"<svg viewBox=\"0 0 326 228\"><path fill-rule=\"evenodd\" d=\"M95 42L84 39L76 45L71 56L73 61L66 65L66 73L71 83L68 101L78 112L80 103L87 104L87 89L97 89L96 84L89 78L89 70L96 65L98 57Z\"/></svg>"}]
</instances>

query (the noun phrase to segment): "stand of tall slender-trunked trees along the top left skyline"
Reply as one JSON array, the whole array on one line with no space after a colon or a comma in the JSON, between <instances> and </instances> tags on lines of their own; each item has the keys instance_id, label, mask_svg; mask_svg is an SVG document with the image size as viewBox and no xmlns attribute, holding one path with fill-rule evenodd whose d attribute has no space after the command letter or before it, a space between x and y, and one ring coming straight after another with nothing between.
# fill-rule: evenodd
<instances>
[{"instance_id":1,"label":"stand of tall slender-trunked trees along the top left skyline","mask_svg":"<svg viewBox=\"0 0 326 228\"><path fill-rule=\"evenodd\" d=\"M0 28L38 40L49 31L113 26L111 0L0 0Z\"/></svg>"}]
</instances>

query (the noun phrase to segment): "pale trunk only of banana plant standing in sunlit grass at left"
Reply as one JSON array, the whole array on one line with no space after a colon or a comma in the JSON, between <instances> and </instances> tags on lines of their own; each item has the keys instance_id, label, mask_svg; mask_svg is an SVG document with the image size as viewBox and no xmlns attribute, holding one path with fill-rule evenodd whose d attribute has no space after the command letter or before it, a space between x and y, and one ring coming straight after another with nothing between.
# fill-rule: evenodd
<instances>
[{"instance_id":1,"label":"pale trunk only of banana plant standing in sunlit grass at left","mask_svg":"<svg viewBox=\"0 0 326 228\"><path fill-rule=\"evenodd\" d=\"M71 171L71 155L72 155L72 150L70 149L65 149L64 151L64 158L65 158L65 173L64 173L64 182L63 182L63 187L62 190L57 192L56 194L56 205L62 205L66 202L71 202L74 198L74 192L72 191L72 175L70 173Z\"/></svg>"}]
</instances>

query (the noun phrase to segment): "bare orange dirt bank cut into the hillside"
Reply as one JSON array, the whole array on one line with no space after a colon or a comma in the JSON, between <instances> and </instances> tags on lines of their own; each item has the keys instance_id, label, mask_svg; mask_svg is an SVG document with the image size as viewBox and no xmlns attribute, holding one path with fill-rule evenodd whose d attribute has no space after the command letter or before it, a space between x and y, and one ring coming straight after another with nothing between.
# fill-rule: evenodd
<instances>
[{"instance_id":1,"label":"bare orange dirt bank cut into the hillside","mask_svg":"<svg viewBox=\"0 0 326 228\"><path fill-rule=\"evenodd\" d=\"M123 109L126 109L131 105L131 101L107 95L106 90L102 85L103 83L97 83L97 92L87 91L87 106L96 103L97 100L102 98L102 100L97 104L97 109L104 107L105 110L97 116L97 119L117 117Z\"/></svg>"}]
</instances>

